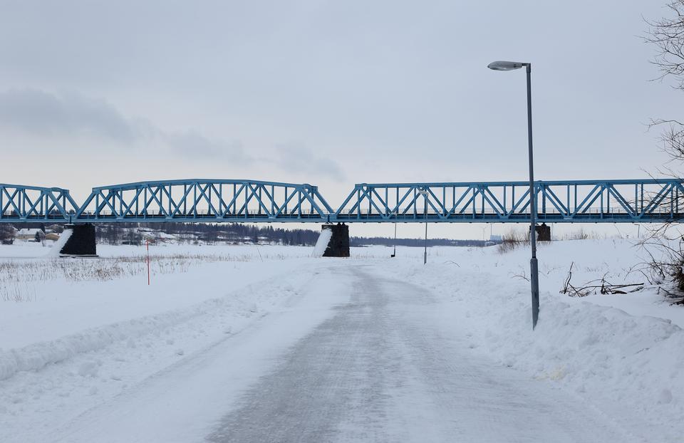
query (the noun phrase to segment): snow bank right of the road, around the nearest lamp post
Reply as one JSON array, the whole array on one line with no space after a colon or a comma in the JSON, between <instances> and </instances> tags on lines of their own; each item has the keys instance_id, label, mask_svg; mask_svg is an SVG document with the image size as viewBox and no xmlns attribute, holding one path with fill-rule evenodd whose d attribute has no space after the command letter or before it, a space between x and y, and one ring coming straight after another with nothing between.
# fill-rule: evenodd
<instances>
[{"instance_id":1,"label":"snow bank right of the road, around the nearest lamp post","mask_svg":"<svg viewBox=\"0 0 684 443\"><path fill-rule=\"evenodd\" d=\"M524 271L529 275L529 249L509 254L474 249L432 257L432 262L428 258L427 266L415 259L394 261L393 269L383 272L440 296L446 303L443 328L465 335L472 352L558 383L611 417L622 417L635 434L680 441L680 429L672 424L684 415L684 330L668 318L643 315L638 303L630 303L627 313L558 293L572 261L577 282L600 278L606 271L621 278L617 281L631 281L635 277L621 264L636 264L637 254L631 245L612 241L542 246L541 308L534 331L529 282L522 278ZM638 298L646 302L641 311L651 312L655 295L594 298L616 304ZM675 318L683 311L666 304L661 308ZM640 419L630 422L635 412ZM645 423L648 429L638 429Z\"/></svg>"}]
</instances>

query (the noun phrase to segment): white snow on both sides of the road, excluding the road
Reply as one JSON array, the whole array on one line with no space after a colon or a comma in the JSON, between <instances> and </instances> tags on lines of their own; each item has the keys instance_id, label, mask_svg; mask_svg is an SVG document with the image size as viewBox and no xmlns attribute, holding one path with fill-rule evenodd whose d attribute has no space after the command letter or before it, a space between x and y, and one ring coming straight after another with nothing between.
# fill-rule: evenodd
<instances>
[{"instance_id":1,"label":"white snow on both sides of the road, excluding the road","mask_svg":"<svg viewBox=\"0 0 684 443\"><path fill-rule=\"evenodd\" d=\"M3 442L46 441L56 427L180 360L224 340L239 343L240 331L255 322L291 306L302 309L295 301L307 300L311 309L316 301L318 314L301 311L302 321L309 318L302 325L313 328L345 303L335 296L345 281L326 279L326 269L359 265L378 279L424 288L435 300L425 309L434 310L441 333L463 340L478 358L567 390L644 441L679 441L684 430L684 382L678 377L684 308L648 289L584 298L559 294L571 263L576 282L606 273L616 283L643 281L629 273L642 259L625 240L541 246L541 315L534 332L524 248L504 254L495 247L432 248L423 266L423 250L412 248L398 249L395 259L383 247L353 249L351 259L316 259L311 248L289 246L165 246L150 251L156 260L151 286L144 248L100 246L103 258L93 259L98 266L128 266L108 278L95 278L100 271L70 277L71 271L53 269L62 266L56 259L41 258L42 248L13 248L0 247L0 256L14 257L0 258L0 284L30 287L35 296L0 302ZM117 257L140 259L124 265ZM49 271L39 278L41 266ZM240 389L249 383L243 380Z\"/></svg>"}]
</instances>

